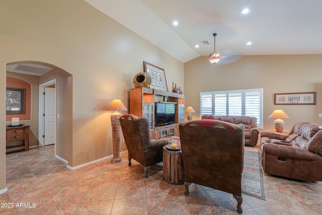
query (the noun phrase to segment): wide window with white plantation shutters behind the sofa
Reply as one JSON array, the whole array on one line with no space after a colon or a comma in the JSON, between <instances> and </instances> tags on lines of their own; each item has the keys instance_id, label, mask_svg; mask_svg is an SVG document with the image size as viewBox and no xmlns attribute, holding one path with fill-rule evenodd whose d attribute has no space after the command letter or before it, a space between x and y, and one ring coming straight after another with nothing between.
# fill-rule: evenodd
<instances>
[{"instance_id":1,"label":"wide window with white plantation shutters behind the sofa","mask_svg":"<svg viewBox=\"0 0 322 215\"><path fill-rule=\"evenodd\" d=\"M252 116L258 128L263 128L263 89L230 90L200 93L200 117Z\"/></svg>"}]
</instances>

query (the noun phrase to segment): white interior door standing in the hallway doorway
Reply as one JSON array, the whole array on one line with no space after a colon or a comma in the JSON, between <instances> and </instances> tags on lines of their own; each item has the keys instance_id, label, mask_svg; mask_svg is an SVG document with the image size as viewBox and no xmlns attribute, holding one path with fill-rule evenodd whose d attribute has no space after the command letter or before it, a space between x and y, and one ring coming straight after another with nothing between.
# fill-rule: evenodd
<instances>
[{"instance_id":1,"label":"white interior door standing in the hallway doorway","mask_svg":"<svg viewBox=\"0 0 322 215\"><path fill-rule=\"evenodd\" d=\"M55 144L56 139L56 89L45 87L44 145Z\"/></svg>"}]
</instances>

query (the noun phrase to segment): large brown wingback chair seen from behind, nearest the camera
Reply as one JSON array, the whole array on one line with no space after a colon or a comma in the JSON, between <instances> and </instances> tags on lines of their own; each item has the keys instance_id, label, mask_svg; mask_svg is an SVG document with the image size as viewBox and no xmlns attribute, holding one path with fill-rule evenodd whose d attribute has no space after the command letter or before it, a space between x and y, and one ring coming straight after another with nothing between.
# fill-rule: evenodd
<instances>
[{"instance_id":1,"label":"large brown wingback chair seen from behind, nearest the camera","mask_svg":"<svg viewBox=\"0 0 322 215\"><path fill-rule=\"evenodd\" d=\"M203 119L179 125L185 171L185 195L191 183L233 194L237 211L241 203L244 170L245 125Z\"/></svg>"}]
</instances>

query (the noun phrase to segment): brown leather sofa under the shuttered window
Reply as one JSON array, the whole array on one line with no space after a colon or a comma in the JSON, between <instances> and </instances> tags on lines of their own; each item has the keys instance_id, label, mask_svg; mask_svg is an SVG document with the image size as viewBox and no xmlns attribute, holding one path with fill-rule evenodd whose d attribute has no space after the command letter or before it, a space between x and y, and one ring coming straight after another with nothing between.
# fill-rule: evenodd
<instances>
[{"instance_id":1,"label":"brown leather sofa under the shuttered window","mask_svg":"<svg viewBox=\"0 0 322 215\"><path fill-rule=\"evenodd\" d=\"M256 146L260 130L257 128L257 118L250 116L213 116L211 114L205 114L201 116L201 119L215 119L234 124L243 123L245 125L245 145Z\"/></svg>"}]
</instances>

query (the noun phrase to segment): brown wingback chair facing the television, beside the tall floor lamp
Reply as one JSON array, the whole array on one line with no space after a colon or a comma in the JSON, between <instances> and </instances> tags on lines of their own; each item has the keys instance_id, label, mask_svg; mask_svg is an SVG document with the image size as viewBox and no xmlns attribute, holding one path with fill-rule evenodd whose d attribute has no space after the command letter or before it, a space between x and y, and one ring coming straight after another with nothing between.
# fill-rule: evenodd
<instances>
[{"instance_id":1,"label":"brown wingback chair facing the television, beside the tall floor lamp","mask_svg":"<svg viewBox=\"0 0 322 215\"><path fill-rule=\"evenodd\" d=\"M144 177L148 178L150 166L162 162L163 146L168 144L168 140L150 140L145 118L125 114L119 120L128 151L128 165L132 165L131 159L139 162L143 165Z\"/></svg>"}]
</instances>

